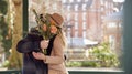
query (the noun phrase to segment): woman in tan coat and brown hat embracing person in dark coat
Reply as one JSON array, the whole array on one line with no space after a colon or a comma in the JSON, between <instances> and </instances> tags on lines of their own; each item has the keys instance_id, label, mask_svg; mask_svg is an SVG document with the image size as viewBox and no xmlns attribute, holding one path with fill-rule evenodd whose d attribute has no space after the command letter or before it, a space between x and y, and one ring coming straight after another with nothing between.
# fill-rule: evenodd
<instances>
[{"instance_id":1,"label":"woman in tan coat and brown hat embracing person in dark coat","mask_svg":"<svg viewBox=\"0 0 132 74\"><path fill-rule=\"evenodd\" d=\"M65 36L62 32L62 23L64 20L62 15L54 13L51 15L50 21L58 28L58 33L54 39L51 55L44 55L40 52L33 52L33 56L36 60L43 60L44 63L48 64L48 74L67 74L64 64L64 49L66 46L66 43ZM45 40L41 41L42 49L46 49L47 44L48 43Z\"/></svg>"}]
</instances>

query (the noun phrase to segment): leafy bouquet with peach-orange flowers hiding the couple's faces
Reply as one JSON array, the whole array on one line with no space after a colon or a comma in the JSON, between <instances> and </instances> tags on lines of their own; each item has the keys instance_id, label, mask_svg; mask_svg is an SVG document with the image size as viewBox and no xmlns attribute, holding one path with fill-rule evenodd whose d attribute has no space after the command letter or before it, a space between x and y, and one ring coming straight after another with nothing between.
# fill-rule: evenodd
<instances>
[{"instance_id":1,"label":"leafy bouquet with peach-orange flowers hiding the couple's faces","mask_svg":"<svg viewBox=\"0 0 132 74\"><path fill-rule=\"evenodd\" d=\"M44 40L50 40L53 35L57 34L57 27L54 22L50 20L50 14L37 14L36 11L33 9L33 13L35 14L35 19L37 22L37 30L43 36ZM43 49L43 53L46 54L46 49Z\"/></svg>"}]
</instances>

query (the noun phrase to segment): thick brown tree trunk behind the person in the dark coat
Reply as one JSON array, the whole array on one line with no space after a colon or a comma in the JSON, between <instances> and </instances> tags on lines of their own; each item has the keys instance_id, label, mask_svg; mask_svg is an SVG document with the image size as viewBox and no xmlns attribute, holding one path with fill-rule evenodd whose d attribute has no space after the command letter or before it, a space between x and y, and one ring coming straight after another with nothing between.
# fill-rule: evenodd
<instances>
[{"instance_id":1,"label":"thick brown tree trunk behind the person in the dark coat","mask_svg":"<svg viewBox=\"0 0 132 74\"><path fill-rule=\"evenodd\" d=\"M18 41L22 38L22 0L12 0L14 4L14 23L12 35L12 52L9 59L9 68L21 68L22 55L16 52Z\"/></svg>"}]
</instances>

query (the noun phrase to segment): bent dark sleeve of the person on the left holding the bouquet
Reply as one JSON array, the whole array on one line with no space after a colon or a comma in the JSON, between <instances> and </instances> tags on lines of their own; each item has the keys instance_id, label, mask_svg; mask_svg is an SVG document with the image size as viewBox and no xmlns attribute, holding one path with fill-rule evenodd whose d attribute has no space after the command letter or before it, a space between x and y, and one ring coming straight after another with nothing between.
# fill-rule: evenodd
<instances>
[{"instance_id":1,"label":"bent dark sleeve of the person on the left holding the bouquet","mask_svg":"<svg viewBox=\"0 0 132 74\"><path fill-rule=\"evenodd\" d=\"M37 39L37 40L36 40ZM16 44L16 51L20 53L40 52L40 36L28 34L24 39L20 40Z\"/></svg>"}]
</instances>

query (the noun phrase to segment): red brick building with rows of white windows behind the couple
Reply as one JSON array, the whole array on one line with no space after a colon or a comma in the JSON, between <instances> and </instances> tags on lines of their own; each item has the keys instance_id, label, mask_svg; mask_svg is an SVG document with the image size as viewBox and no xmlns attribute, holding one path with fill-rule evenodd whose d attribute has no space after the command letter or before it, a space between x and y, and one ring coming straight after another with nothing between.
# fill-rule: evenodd
<instances>
[{"instance_id":1,"label":"red brick building with rows of white windows behind the couple","mask_svg":"<svg viewBox=\"0 0 132 74\"><path fill-rule=\"evenodd\" d=\"M65 14L64 24L68 39L79 38L101 41L101 11L99 10L100 3L98 1L99 0L63 0Z\"/></svg>"}]
</instances>

